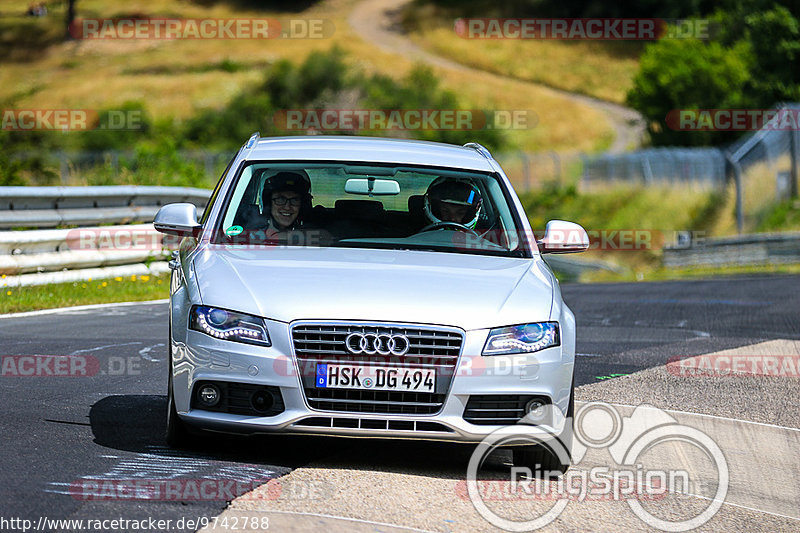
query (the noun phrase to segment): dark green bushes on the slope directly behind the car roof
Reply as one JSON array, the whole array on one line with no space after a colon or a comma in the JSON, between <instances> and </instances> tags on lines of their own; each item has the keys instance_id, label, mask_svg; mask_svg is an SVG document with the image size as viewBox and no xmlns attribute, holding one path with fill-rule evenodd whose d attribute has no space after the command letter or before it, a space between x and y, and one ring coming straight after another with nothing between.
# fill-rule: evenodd
<instances>
[{"instance_id":1,"label":"dark green bushes on the slope directly behind the car roof","mask_svg":"<svg viewBox=\"0 0 800 533\"><path fill-rule=\"evenodd\" d=\"M298 135L286 131L273 120L279 111L293 109L460 109L456 94L439 87L429 68L417 66L404 79L375 74L365 76L345 61L344 53L333 48L312 52L296 65L282 60L267 72L264 82L244 91L225 108L205 110L189 120L182 138L192 146L208 148L241 145L254 131L262 135ZM325 133L352 133L330 131ZM498 130L372 130L360 134L404 136L422 140L464 144L476 141L490 149L503 148L505 139Z\"/></svg>"}]
</instances>

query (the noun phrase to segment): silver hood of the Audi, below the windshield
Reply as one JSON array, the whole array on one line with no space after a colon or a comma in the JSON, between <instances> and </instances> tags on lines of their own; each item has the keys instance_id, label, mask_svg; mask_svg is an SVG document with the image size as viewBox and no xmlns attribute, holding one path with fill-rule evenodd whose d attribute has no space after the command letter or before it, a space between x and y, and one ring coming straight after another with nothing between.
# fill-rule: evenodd
<instances>
[{"instance_id":1,"label":"silver hood of the Audi, below the windshield","mask_svg":"<svg viewBox=\"0 0 800 533\"><path fill-rule=\"evenodd\" d=\"M351 248L204 249L203 303L272 320L369 320L481 329L550 319L541 259Z\"/></svg>"}]
</instances>

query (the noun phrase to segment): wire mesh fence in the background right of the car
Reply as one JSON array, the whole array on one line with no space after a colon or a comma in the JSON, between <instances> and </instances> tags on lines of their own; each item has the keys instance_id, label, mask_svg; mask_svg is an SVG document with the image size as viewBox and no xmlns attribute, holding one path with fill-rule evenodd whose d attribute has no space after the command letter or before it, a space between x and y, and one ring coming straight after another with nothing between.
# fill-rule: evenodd
<instances>
[{"instance_id":1,"label":"wire mesh fence in the background right of the car","mask_svg":"<svg viewBox=\"0 0 800 533\"><path fill-rule=\"evenodd\" d=\"M739 233L755 229L776 202L798 196L800 131L785 127L777 111L800 116L800 104L782 104L775 118L738 141L714 148L650 148L622 154L502 154L517 190L546 183L577 183L583 190L607 185L689 186L736 195Z\"/></svg>"}]
</instances>

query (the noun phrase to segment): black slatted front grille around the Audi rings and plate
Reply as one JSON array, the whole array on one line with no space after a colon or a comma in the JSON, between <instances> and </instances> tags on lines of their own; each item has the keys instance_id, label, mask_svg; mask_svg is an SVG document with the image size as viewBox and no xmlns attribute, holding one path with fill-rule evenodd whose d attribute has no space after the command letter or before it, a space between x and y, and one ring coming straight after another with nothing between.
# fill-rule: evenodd
<instances>
[{"instance_id":1,"label":"black slatted front grille around the Audi rings and plate","mask_svg":"<svg viewBox=\"0 0 800 533\"><path fill-rule=\"evenodd\" d=\"M345 339L351 333L405 335L409 349L404 355L352 354L345 347ZM346 413L430 415L439 412L450 388L463 340L463 334L456 330L420 326L327 323L300 324L292 328L303 392L309 406ZM317 363L434 368L434 392L317 388Z\"/></svg>"}]
</instances>

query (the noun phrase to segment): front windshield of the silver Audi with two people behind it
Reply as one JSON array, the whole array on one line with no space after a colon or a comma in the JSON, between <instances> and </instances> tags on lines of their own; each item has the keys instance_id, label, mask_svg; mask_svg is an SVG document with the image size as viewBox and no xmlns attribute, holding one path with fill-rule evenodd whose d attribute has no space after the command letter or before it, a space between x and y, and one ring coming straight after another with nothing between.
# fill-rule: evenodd
<instances>
[{"instance_id":1,"label":"front windshield of the silver Audi with two people behind it","mask_svg":"<svg viewBox=\"0 0 800 533\"><path fill-rule=\"evenodd\" d=\"M212 241L524 257L499 178L460 169L256 162L228 194Z\"/></svg>"}]
</instances>

